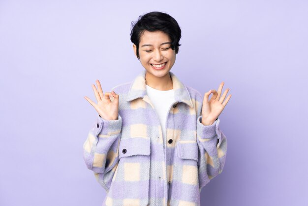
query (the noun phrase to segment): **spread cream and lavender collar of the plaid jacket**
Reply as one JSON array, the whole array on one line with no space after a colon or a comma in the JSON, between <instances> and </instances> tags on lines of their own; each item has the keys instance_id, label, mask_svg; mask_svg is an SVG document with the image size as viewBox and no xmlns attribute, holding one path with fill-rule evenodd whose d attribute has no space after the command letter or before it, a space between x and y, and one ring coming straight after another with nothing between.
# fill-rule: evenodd
<instances>
[{"instance_id":1,"label":"spread cream and lavender collar of the plaid jacket","mask_svg":"<svg viewBox=\"0 0 308 206\"><path fill-rule=\"evenodd\" d=\"M193 107L193 103L191 101L186 86L178 79L178 77L173 72L169 71L169 73L172 79L176 103L182 102L186 103L190 107ZM133 82L130 84L126 101L129 102L137 98L144 97L148 98L146 90L146 70L143 70L141 73L139 73L137 77L133 80Z\"/></svg>"}]
</instances>

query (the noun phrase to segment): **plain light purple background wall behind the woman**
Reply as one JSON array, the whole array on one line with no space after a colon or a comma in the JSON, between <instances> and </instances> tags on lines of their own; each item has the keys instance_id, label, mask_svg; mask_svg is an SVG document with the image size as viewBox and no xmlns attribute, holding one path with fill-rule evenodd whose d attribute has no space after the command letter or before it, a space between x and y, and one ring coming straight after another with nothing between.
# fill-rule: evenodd
<instances>
[{"instance_id":1,"label":"plain light purple background wall behind the woman","mask_svg":"<svg viewBox=\"0 0 308 206\"><path fill-rule=\"evenodd\" d=\"M308 1L0 1L0 205L101 206L83 142L104 91L144 68L130 24L162 11L182 29L171 69L203 95L225 82L223 172L202 206L307 206Z\"/></svg>"}]
</instances>

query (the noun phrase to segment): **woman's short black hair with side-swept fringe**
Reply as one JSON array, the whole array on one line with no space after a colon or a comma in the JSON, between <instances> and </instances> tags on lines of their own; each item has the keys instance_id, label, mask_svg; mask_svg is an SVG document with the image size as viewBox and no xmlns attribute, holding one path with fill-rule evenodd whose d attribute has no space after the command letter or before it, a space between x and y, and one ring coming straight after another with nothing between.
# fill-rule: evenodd
<instances>
[{"instance_id":1,"label":"woman's short black hair with side-swept fringe","mask_svg":"<svg viewBox=\"0 0 308 206\"><path fill-rule=\"evenodd\" d=\"M178 22L167 13L152 11L140 15L137 22L131 22L130 40L137 47L136 55L139 60L140 37L145 30L149 32L162 31L168 34L171 39L172 50L175 50L176 54L179 52L181 29Z\"/></svg>"}]
</instances>

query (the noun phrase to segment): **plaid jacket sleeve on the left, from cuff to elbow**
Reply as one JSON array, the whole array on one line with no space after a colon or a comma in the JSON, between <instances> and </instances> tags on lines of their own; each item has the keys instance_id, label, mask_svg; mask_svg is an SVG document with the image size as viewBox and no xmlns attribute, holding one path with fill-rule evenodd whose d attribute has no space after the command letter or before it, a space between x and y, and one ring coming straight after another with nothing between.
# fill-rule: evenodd
<instances>
[{"instance_id":1,"label":"plaid jacket sleeve on the left, from cuff to elbow","mask_svg":"<svg viewBox=\"0 0 308 206\"><path fill-rule=\"evenodd\" d=\"M83 158L99 184L109 191L119 162L122 117L105 120L98 114L83 144Z\"/></svg>"}]
</instances>

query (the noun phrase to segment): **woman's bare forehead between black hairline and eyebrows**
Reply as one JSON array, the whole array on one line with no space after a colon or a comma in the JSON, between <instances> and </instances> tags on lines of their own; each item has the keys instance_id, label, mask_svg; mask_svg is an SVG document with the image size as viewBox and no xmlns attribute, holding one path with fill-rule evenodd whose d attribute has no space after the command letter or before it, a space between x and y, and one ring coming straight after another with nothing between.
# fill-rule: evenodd
<instances>
[{"instance_id":1,"label":"woman's bare forehead between black hairline and eyebrows","mask_svg":"<svg viewBox=\"0 0 308 206\"><path fill-rule=\"evenodd\" d=\"M140 44L160 44L166 41L171 41L168 34L162 31L149 32L147 30L140 37Z\"/></svg>"}]
</instances>

